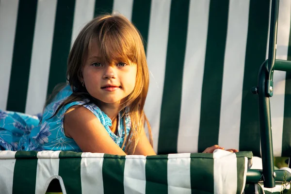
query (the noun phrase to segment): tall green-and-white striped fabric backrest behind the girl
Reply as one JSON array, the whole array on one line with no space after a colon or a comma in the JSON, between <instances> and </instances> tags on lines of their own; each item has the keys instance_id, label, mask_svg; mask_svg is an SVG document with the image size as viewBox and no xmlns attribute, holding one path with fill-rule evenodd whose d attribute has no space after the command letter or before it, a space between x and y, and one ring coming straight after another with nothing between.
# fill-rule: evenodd
<instances>
[{"instance_id":1,"label":"tall green-and-white striped fabric backrest behind the girl","mask_svg":"<svg viewBox=\"0 0 291 194\"><path fill-rule=\"evenodd\" d=\"M0 0L0 109L42 111L65 82L82 26L100 13L129 18L145 40L145 111L160 154L218 144L260 155L259 66L267 57L270 0ZM277 59L291 60L291 1L280 0ZM275 72L275 156L291 155L291 73Z\"/></svg>"}]
</instances>

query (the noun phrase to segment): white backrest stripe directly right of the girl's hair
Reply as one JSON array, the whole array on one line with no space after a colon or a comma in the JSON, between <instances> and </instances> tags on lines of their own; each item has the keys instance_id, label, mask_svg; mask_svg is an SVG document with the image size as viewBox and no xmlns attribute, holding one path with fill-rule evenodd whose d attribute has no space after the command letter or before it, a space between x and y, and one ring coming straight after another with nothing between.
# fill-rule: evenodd
<instances>
[{"instance_id":1,"label":"white backrest stripe directly right of the girl's hair","mask_svg":"<svg viewBox=\"0 0 291 194\"><path fill-rule=\"evenodd\" d=\"M154 150L158 150L162 92L166 68L170 0L152 0L147 44L150 71L145 113L152 128Z\"/></svg>"}]
</instances>

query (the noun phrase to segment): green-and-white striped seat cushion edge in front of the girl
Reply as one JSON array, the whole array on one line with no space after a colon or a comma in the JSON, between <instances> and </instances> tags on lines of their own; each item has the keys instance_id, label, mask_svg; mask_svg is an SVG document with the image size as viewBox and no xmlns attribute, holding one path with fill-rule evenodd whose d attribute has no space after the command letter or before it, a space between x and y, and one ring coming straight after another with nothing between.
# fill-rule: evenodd
<instances>
[{"instance_id":1,"label":"green-and-white striped seat cushion edge in front of the girl","mask_svg":"<svg viewBox=\"0 0 291 194\"><path fill-rule=\"evenodd\" d=\"M58 178L69 194L241 194L251 158L251 152L224 150L147 157L0 151L0 191L43 194Z\"/></svg>"}]
</instances>

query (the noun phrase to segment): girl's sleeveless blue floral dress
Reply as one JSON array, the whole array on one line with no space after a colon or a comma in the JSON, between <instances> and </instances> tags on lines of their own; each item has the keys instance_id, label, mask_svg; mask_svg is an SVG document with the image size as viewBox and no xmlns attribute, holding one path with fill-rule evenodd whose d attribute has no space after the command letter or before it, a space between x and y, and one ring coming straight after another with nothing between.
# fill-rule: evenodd
<instances>
[{"instance_id":1,"label":"girl's sleeveless blue floral dress","mask_svg":"<svg viewBox=\"0 0 291 194\"><path fill-rule=\"evenodd\" d=\"M72 138L66 137L64 133L64 113L74 105L81 105L91 111L99 119L113 141L121 147L124 142L125 131L128 136L131 127L128 114L122 118L121 113L119 113L117 135L109 128L112 126L111 119L96 104L88 103L88 99L71 102L63 106L55 116L50 118L63 100L71 94L70 86L65 86L45 108L42 119L41 116L0 110L0 150L81 152L76 142ZM125 119L125 126L123 125L123 119Z\"/></svg>"}]
</instances>

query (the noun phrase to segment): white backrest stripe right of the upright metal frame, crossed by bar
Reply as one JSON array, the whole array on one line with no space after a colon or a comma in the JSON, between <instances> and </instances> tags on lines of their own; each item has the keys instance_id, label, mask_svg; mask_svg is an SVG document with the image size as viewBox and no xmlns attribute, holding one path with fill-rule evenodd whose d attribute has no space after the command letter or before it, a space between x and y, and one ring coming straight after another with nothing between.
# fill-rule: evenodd
<instances>
[{"instance_id":1,"label":"white backrest stripe right of the upright metal frame, crossed by bar","mask_svg":"<svg viewBox=\"0 0 291 194\"><path fill-rule=\"evenodd\" d=\"M287 60L290 35L291 1L281 0L279 6L276 59ZM270 98L273 150L275 156L282 153L284 100L286 72L274 72L274 96Z\"/></svg>"}]
</instances>

